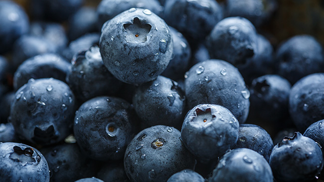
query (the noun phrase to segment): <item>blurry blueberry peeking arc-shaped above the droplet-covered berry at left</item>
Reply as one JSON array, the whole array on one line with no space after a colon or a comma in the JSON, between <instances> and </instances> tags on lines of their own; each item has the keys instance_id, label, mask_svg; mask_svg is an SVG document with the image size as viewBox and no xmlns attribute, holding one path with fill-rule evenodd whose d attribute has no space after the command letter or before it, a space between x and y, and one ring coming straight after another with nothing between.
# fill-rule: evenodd
<instances>
[{"instance_id":1,"label":"blurry blueberry peeking arc-shaped above the droplet-covered berry at left","mask_svg":"<svg viewBox=\"0 0 324 182\"><path fill-rule=\"evenodd\" d=\"M29 79L55 78L65 82L71 64L58 54L37 55L25 60L13 76L13 87L18 90Z\"/></svg>"}]
</instances>

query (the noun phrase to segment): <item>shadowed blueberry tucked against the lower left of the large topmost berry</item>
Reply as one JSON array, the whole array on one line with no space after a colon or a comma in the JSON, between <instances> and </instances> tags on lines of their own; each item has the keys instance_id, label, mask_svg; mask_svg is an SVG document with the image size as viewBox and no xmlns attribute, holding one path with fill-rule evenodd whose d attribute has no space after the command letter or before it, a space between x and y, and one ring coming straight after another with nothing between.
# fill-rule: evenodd
<instances>
[{"instance_id":1,"label":"shadowed blueberry tucked against the lower left of the large topmost berry","mask_svg":"<svg viewBox=\"0 0 324 182\"><path fill-rule=\"evenodd\" d=\"M97 96L113 95L122 85L104 65L99 47L75 55L67 81L81 103Z\"/></svg>"}]
</instances>

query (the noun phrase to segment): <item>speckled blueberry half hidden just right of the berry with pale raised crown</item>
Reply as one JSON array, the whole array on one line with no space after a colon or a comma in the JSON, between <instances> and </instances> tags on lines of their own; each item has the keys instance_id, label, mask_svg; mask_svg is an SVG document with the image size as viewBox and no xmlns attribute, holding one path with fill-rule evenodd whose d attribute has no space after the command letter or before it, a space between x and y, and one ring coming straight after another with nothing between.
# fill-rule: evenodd
<instances>
[{"instance_id":1,"label":"speckled blueberry half hidden just right of the berry with pale raised crown","mask_svg":"<svg viewBox=\"0 0 324 182\"><path fill-rule=\"evenodd\" d=\"M232 149L251 149L269 162L273 149L273 142L266 130L253 124L242 124L238 128L238 140Z\"/></svg>"}]
</instances>

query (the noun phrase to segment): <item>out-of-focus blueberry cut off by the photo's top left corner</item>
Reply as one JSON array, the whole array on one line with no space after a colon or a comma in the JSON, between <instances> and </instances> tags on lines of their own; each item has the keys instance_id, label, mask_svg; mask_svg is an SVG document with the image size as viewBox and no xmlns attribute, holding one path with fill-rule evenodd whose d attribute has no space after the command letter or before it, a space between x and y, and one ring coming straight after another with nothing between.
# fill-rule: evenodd
<instances>
[{"instance_id":1,"label":"out-of-focus blueberry cut off by the photo's top left corner","mask_svg":"<svg viewBox=\"0 0 324 182\"><path fill-rule=\"evenodd\" d=\"M2 54L12 48L16 39L28 32L28 16L15 2L1 0L0 27L0 54Z\"/></svg>"}]
</instances>

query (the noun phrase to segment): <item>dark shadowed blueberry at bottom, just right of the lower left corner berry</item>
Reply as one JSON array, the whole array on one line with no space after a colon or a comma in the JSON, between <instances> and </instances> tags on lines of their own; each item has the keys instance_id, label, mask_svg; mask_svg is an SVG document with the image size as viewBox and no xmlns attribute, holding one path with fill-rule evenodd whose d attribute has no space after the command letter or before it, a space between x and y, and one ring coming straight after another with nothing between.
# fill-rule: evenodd
<instances>
[{"instance_id":1,"label":"dark shadowed blueberry at bottom, just right of the lower left corner berry","mask_svg":"<svg viewBox=\"0 0 324 182\"><path fill-rule=\"evenodd\" d=\"M84 157L77 144L61 144L42 148L52 173L51 182L74 182L96 175L98 163Z\"/></svg>"}]
</instances>

